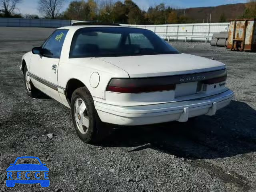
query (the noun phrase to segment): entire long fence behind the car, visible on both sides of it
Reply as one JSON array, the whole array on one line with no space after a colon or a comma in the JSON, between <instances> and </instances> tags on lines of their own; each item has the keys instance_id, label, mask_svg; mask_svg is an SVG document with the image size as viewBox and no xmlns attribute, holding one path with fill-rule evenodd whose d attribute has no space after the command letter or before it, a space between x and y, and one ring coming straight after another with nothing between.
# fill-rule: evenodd
<instances>
[{"instance_id":1,"label":"entire long fence behind the car, visible on both sides of it","mask_svg":"<svg viewBox=\"0 0 256 192\"><path fill-rule=\"evenodd\" d=\"M26 26L26 27L51 27L58 28L70 26L74 20L50 19L22 19L0 18L0 26ZM196 24L168 24L168 25L127 25L144 28L155 32L166 40L184 41L210 41L213 33L228 31L230 23L196 23Z\"/></svg>"}]
</instances>

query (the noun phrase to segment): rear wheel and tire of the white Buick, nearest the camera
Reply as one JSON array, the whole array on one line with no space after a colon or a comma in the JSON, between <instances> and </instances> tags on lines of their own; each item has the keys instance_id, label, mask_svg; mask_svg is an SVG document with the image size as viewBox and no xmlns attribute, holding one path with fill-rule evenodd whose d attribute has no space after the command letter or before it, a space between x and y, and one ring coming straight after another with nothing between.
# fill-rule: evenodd
<instances>
[{"instance_id":1,"label":"rear wheel and tire of the white Buick, nearest the camera","mask_svg":"<svg viewBox=\"0 0 256 192\"><path fill-rule=\"evenodd\" d=\"M102 139L102 122L86 87L80 87L73 92L71 114L76 132L82 141L94 144Z\"/></svg>"}]
</instances>

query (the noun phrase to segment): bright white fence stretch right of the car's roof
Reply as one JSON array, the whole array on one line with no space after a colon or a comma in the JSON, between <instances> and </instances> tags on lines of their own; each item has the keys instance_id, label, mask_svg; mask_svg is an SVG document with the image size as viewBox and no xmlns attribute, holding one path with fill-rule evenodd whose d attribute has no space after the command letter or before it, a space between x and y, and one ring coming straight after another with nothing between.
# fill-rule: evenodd
<instances>
[{"instance_id":1,"label":"bright white fence stretch right of the car's roof","mask_svg":"<svg viewBox=\"0 0 256 192\"><path fill-rule=\"evenodd\" d=\"M228 31L230 23L122 25L148 29L168 40L210 41L214 33Z\"/></svg>"}]
</instances>

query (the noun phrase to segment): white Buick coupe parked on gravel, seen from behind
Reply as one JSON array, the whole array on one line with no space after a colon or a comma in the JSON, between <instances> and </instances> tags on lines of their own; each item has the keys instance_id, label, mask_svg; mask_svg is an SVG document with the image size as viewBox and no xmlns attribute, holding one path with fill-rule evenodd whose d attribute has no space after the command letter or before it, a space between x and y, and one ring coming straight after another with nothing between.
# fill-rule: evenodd
<instances>
[{"instance_id":1,"label":"white Buick coupe parked on gravel, seen from behind","mask_svg":"<svg viewBox=\"0 0 256 192\"><path fill-rule=\"evenodd\" d=\"M76 132L92 143L102 122L144 125L214 115L234 96L226 66L182 54L154 32L118 24L58 28L20 69L26 91L71 108Z\"/></svg>"}]
</instances>

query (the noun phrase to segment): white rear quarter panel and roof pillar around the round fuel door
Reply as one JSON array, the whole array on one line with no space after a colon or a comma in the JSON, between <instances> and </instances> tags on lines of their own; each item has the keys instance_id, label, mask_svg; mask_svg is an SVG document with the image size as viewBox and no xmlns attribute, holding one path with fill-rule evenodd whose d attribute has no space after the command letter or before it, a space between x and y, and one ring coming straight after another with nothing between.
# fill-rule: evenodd
<instances>
[{"instance_id":1,"label":"white rear quarter panel and roof pillar around the round fuel door","mask_svg":"<svg viewBox=\"0 0 256 192\"><path fill-rule=\"evenodd\" d=\"M58 86L66 88L68 80L80 80L88 88L91 95L96 98L105 98L106 86L111 78L129 78L124 70L97 58L69 58L70 46L74 33L78 28L69 29L58 66ZM92 73L98 72L100 82L96 88L90 85Z\"/></svg>"}]
</instances>

